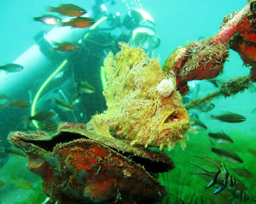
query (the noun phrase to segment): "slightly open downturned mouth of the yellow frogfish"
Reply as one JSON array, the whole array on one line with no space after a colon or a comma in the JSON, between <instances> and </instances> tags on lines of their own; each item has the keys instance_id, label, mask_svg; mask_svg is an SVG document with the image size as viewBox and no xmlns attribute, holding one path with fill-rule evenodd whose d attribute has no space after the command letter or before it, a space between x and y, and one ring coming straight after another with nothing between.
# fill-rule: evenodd
<instances>
[{"instance_id":1,"label":"slightly open downturned mouth of the yellow frogfish","mask_svg":"<svg viewBox=\"0 0 256 204\"><path fill-rule=\"evenodd\" d=\"M158 130L160 134L166 134L166 131L180 131L185 126L189 126L189 117L187 112L183 109L172 109L164 115Z\"/></svg>"}]
</instances>

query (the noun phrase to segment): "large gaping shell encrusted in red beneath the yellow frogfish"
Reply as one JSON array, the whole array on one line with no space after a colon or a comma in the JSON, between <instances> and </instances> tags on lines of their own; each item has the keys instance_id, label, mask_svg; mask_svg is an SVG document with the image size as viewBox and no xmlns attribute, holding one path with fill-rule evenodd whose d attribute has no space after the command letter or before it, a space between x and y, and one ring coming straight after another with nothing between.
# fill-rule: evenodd
<instances>
[{"instance_id":1,"label":"large gaping shell encrusted in red beneath the yellow frogfish","mask_svg":"<svg viewBox=\"0 0 256 204\"><path fill-rule=\"evenodd\" d=\"M61 123L52 137L15 132L9 141L28 155L44 192L60 203L153 203L166 190L155 179L174 163L166 154L104 137L84 124Z\"/></svg>"}]
</instances>

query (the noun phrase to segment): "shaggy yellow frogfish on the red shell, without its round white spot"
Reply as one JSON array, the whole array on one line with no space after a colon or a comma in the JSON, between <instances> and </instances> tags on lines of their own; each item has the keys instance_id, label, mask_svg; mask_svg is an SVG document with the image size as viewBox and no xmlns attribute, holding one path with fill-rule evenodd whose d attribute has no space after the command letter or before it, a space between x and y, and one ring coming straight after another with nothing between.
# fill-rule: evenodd
<instances>
[{"instance_id":1,"label":"shaggy yellow frogfish on the red shell, without its round white spot","mask_svg":"<svg viewBox=\"0 0 256 204\"><path fill-rule=\"evenodd\" d=\"M104 91L108 110L88 123L106 138L127 139L131 144L174 147L189 129L188 114L176 91L175 76L164 76L159 62L140 48L119 44L121 51L104 61L108 88ZM168 79L174 84L170 96L159 94L158 84Z\"/></svg>"}]
</instances>

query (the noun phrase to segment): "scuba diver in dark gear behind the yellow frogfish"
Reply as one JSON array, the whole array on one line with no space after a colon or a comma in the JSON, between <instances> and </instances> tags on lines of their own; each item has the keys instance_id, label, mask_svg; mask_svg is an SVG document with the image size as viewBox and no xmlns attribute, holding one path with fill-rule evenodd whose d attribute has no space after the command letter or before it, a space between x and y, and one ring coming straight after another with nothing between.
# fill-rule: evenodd
<instances>
[{"instance_id":1,"label":"scuba diver in dark gear behind the yellow frogfish","mask_svg":"<svg viewBox=\"0 0 256 204\"><path fill-rule=\"evenodd\" d=\"M96 0L92 10L87 14L95 19L96 23L86 29L79 42L78 50L65 53L68 65L65 65L64 74L58 79L59 81L53 82L54 88L56 94L62 92L62 95L64 93L69 99L76 95L76 105L73 105L73 114L59 113L60 121L86 123L94 114L106 110L106 101L102 94L107 86L103 62L109 52L114 54L119 52L118 42L141 46L146 52L151 52L159 46L160 38L155 34L155 23L150 14L142 10L141 4L137 1L123 2L126 3L128 13L122 19L119 12L113 14L106 7L106 5L114 6L115 1ZM45 53L49 61L56 59L57 64L61 62L62 53L50 53L48 42L42 36L37 37L36 41L40 51ZM64 83L63 80L69 82ZM56 84L58 84L57 89ZM90 90L93 91L86 91L81 84L83 86L88 84L91 87ZM53 88L48 87L46 90L53 90ZM47 104L49 105L49 103L44 103L42 106L45 107Z\"/></svg>"}]
</instances>

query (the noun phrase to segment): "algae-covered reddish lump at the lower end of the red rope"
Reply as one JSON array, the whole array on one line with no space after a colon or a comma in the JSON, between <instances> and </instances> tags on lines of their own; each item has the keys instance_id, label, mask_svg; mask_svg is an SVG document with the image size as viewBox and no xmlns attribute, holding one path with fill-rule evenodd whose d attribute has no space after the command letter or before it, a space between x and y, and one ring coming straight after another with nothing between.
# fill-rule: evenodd
<instances>
[{"instance_id":1,"label":"algae-covered reddish lump at the lower end of the red rope","mask_svg":"<svg viewBox=\"0 0 256 204\"><path fill-rule=\"evenodd\" d=\"M228 48L222 42L213 43L213 40L200 40L180 47L164 63L166 73L175 73L177 90L181 95L187 94L188 81L214 78L223 69L229 56Z\"/></svg>"}]
</instances>

